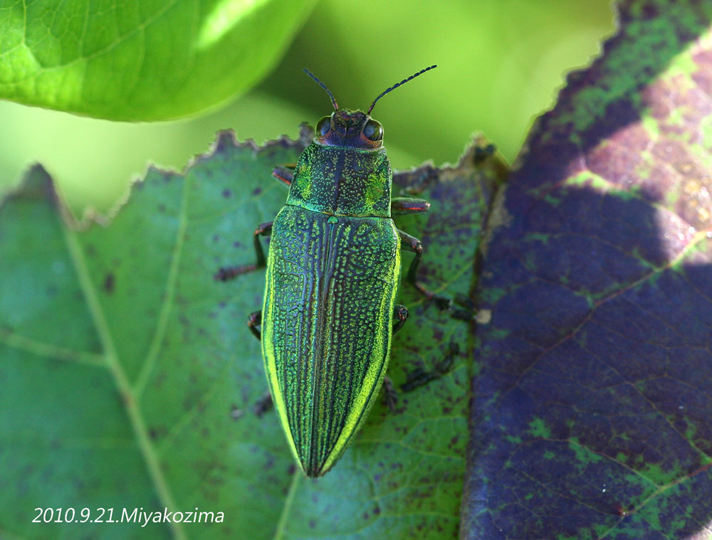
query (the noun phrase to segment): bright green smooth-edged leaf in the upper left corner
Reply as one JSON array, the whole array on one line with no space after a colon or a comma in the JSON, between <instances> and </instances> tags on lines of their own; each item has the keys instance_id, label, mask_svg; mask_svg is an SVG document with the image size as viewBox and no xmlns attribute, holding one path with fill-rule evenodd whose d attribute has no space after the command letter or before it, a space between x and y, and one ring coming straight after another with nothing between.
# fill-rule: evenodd
<instances>
[{"instance_id":1,"label":"bright green smooth-edged leaf in the upper left corner","mask_svg":"<svg viewBox=\"0 0 712 540\"><path fill-rule=\"evenodd\" d=\"M314 0L0 0L0 97L108 120L229 100L279 59Z\"/></svg>"}]
</instances>

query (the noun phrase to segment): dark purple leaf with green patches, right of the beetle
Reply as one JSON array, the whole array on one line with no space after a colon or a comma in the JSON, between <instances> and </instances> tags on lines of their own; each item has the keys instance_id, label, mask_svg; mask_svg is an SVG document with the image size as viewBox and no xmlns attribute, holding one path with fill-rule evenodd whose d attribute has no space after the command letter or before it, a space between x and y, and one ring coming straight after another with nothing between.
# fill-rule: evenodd
<instances>
[{"instance_id":1,"label":"dark purple leaf with green patches, right of the beetle","mask_svg":"<svg viewBox=\"0 0 712 540\"><path fill-rule=\"evenodd\" d=\"M712 6L620 20L494 213L466 539L710 538Z\"/></svg>"}]
</instances>

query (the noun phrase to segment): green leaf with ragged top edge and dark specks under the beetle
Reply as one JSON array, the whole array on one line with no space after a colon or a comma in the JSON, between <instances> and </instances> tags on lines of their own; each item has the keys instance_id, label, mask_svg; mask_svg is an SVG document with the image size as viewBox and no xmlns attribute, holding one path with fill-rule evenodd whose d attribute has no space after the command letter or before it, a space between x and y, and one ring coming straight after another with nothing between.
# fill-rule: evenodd
<instances>
[{"instance_id":1,"label":"green leaf with ragged top edge and dark specks under the beetle","mask_svg":"<svg viewBox=\"0 0 712 540\"><path fill-rule=\"evenodd\" d=\"M110 223L68 218L41 167L0 207L0 531L31 539L455 538L473 342L412 287L389 374L452 361L444 376L379 401L335 468L307 480L266 392L246 317L263 272L252 233L286 199L270 178L308 142L236 144L184 174L151 169ZM422 280L467 297L493 185L503 168L478 142L458 166L401 174L394 194L429 198L399 219L426 246ZM404 255L408 264L412 255ZM9 284L9 286L5 286ZM224 512L214 524L33 524L32 509ZM13 537L13 536L11 536Z\"/></svg>"}]
</instances>

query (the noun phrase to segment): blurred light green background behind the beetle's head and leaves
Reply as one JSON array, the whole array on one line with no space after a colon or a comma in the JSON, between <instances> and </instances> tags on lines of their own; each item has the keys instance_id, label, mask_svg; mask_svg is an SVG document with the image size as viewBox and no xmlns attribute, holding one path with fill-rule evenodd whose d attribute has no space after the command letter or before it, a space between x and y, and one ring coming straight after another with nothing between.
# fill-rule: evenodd
<instances>
[{"instance_id":1,"label":"blurred light green background behind the beetle's head and leaves","mask_svg":"<svg viewBox=\"0 0 712 540\"><path fill-rule=\"evenodd\" d=\"M439 68L379 101L373 116L396 168L455 162L473 132L509 161L551 107L565 73L614 31L609 0L321 0L277 68L220 110L177 122L128 124L0 102L0 190L41 162L75 213L106 211L147 164L181 169L218 129L258 142L295 136L342 107L365 109L421 68ZM266 179L269 181L269 179Z\"/></svg>"}]
</instances>

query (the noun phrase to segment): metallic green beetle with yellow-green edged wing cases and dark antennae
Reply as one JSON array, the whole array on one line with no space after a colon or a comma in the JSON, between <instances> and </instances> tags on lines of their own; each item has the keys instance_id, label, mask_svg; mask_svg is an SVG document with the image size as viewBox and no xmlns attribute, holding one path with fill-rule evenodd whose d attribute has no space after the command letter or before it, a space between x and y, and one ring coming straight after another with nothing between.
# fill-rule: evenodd
<instances>
[{"instance_id":1,"label":"metallic green beetle with yellow-green edged wing cases and dark antennae","mask_svg":"<svg viewBox=\"0 0 712 540\"><path fill-rule=\"evenodd\" d=\"M416 282L421 243L391 218L427 211L429 203L391 198L383 128L370 112L384 94L434 67L392 86L365 113L339 109L307 71L335 112L318 122L293 171L276 169L290 186L286 205L255 231L256 267L267 272L250 329L261 339L273 403L308 477L333 467L382 386L392 333L408 316L395 303L401 248L415 253L409 282L431 296ZM266 235L267 259L259 240Z\"/></svg>"}]
</instances>

